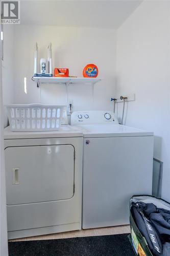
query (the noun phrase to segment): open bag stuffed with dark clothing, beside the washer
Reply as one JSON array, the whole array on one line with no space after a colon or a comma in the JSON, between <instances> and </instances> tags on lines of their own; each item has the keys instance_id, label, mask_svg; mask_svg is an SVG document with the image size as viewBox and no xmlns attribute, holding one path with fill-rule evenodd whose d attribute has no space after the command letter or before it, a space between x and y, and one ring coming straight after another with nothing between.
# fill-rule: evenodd
<instances>
[{"instance_id":1,"label":"open bag stuffed with dark clothing, beside the washer","mask_svg":"<svg viewBox=\"0 0 170 256\"><path fill-rule=\"evenodd\" d=\"M136 255L170 256L170 204L152 196L130 200L130 241Z\"/></svg>"}]
</instances>

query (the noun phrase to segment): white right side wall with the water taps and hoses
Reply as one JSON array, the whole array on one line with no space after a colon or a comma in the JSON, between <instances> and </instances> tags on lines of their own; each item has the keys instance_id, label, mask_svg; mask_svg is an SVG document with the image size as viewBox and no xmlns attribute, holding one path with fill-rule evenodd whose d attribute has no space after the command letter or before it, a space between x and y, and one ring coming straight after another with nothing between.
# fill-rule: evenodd
<instances>
[{"instance_id":1,"label":"white right side wall with the water taps and hoses","mask_svg":"<svg viewBox=\"0 0 170 256\"><path fill-rule=\"evenodd\" d=\"M117 30L116 46L117 95L136 94L136 101L128 102L126 125L154 131L154 156L163 161L162 196L168 201L169 14L168 1L143 2Z\"/></svg>"}]
</instances>

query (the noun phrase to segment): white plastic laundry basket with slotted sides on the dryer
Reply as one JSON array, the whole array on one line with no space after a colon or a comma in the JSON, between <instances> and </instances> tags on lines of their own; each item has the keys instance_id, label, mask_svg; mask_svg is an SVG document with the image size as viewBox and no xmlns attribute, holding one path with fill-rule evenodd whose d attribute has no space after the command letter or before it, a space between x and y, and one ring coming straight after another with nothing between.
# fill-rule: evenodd
<instances>
[{"instance_id":1,"label":"white plastic laundry basket with slotted sides on the dryer","mask_svg":"<svg viewBox=\"0 0 170 256\"><path fill-rule=\"evenodd\" d=\"M58 131L64 108L61 105L7 105L10 129L13 132Z\"/></svg>"}]
</instances>

